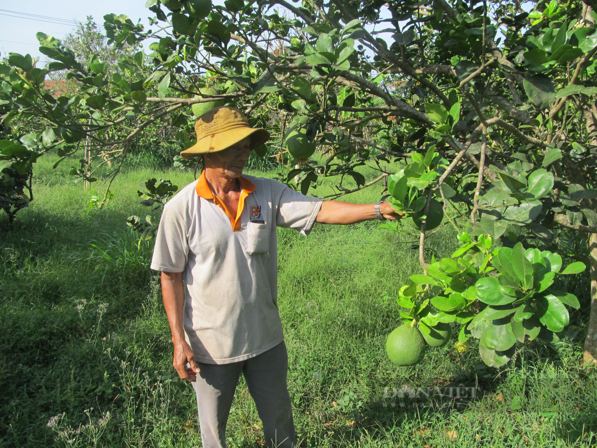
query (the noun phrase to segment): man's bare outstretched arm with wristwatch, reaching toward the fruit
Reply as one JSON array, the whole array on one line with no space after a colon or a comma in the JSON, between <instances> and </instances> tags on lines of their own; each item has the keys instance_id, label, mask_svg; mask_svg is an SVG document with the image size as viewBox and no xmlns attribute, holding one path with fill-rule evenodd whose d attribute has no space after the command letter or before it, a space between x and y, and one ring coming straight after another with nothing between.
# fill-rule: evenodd
<instances>
[{"instance_id":1,"label":"man's bare outstretched arm with wristwatch, reaching toward the fruit","mask_svg":"<svg viewBox=\"0 0 597 448\"><path fill-rule=\"evenodd\" d=\"M379 205L381 216L386 219L400 219L404 214L396 213L389 202ZM342 201L324 201L315 219L322 224L353 224L355 222L375 219L374 204L351 204Z\"/></svg>"}]
</instances>

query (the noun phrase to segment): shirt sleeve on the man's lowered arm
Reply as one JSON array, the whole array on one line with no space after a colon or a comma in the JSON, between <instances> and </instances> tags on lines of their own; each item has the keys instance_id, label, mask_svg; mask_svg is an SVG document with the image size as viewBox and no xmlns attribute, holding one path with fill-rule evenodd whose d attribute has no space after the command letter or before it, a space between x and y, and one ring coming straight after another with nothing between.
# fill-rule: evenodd
<instances>
[{"instance_id":1,"label":"shirt sleeve on the man's lowered arm","mask_svg":"<svg viewBox=\"0 0 597 448\"><path fill-rule=\"evenodd\" d=\"M183 272L188 253L186 223L176 210L166 204L155 237L151 268L154 271Z\"/></svg>"}]
</instances>

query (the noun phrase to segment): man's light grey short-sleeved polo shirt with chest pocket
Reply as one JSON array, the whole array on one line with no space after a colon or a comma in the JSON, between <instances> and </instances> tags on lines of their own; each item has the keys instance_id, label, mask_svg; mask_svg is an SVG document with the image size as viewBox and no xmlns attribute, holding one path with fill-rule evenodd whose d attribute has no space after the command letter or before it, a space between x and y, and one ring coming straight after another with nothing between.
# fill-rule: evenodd
<instances>
[{"instance_id":1,"label":"man's light grey short-sleeved polo shirt with chest pocket","mask_svg":"<svg viewBox=\"0 0 597 448\"><path fill-rule=\"evenodd\" d=\"M242 361L282 342L276 227L308 235L321 208L275 180L244 177L255 189L238 231L195 181L167 202L156 234L151 268L183 272L183 326L202 363Z\"/></svg>"}]
</instances>

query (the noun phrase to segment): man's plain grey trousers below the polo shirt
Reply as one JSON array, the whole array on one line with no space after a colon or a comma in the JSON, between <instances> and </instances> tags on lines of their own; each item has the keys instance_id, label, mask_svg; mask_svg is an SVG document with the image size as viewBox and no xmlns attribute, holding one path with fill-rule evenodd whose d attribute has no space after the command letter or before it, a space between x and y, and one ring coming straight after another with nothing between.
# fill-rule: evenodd
<instances>
[{"instance_id":1,"label":"man's plain grey trousers below the polo shirt","mask_svg":"<svg viewBox=\"0 0 597 448\"><path fill-rule=\"evenodd\" d=\"M296 446L287 386L288 354L284 341L256 357L238 363L198 364L201 372L192 385L197 394L204 448L226 447L226 423L241 372L263 422L267 446Z\"/></svg>"}]
</instances>

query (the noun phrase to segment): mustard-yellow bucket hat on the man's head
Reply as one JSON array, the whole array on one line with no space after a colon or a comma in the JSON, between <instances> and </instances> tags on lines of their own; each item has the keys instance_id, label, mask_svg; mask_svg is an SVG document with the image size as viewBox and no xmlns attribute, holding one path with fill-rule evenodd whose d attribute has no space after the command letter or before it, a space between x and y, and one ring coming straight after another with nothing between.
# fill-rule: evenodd
<instances>
[{"instance_id":1,"label":"mustard-yellow bucket hat on the man's head","mask_svg":"<svg viewBox=\"0 0 597 448\"><path fill-rule=\"evenodd\" d=\"M250 127L244 113L226 106L211 109L201 115L195 122L195 132L197 143L180 152L184 158L222 151L249 136L250 149L255 149L269 140L269 132L263 128Z\"/></svg>"}]
</instances>

